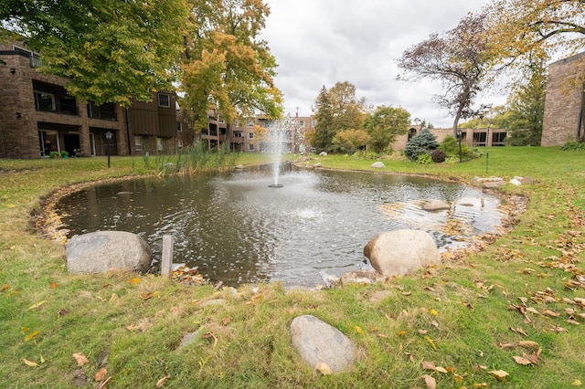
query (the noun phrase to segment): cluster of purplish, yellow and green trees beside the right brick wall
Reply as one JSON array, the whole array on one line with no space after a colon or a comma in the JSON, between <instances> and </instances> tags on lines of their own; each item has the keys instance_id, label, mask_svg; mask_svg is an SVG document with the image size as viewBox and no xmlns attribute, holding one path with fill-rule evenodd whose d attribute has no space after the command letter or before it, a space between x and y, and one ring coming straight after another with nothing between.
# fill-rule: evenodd
<instances>
[{"instance_id":1,"label":"cluster of purplish, yellow and green trees beside the right brick wall","mask_svg":"<svg viewBox=\"0 0 585 389\"><path fill-rule=\"evenodd\" d=\"M488 118L511 130L513 144L540 144L546 63L585 46L584 0L493 0L477 15L407 49L399 78L441 81L436 102L460 120ZM513 79L505 107L477 106L478 94L506 72ZM490 110L491 109L491 110Z\"/></svg>"}]
</instances>

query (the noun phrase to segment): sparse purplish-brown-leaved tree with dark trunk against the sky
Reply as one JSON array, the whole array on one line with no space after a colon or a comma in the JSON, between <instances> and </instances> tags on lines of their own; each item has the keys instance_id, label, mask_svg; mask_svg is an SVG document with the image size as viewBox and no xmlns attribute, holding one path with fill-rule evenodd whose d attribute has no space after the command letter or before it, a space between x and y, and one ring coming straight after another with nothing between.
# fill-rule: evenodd
<instances>
[{"instance_id":1,"label":"sparse purplish-brown-leaved tree with dark trunk against the sky","mask_svg":"<svg viewBox=\"0 0 585 389\"><path fill-rule=\"evenodd\" d=\"M399 79L441 82L443 92L434 100L454 117L453 134L460 120L478 114L473 103L489 81L492 61L484 32L484 15L465 16L452 30L407 49L398 61Z\"/></svg>"}]
</instances>

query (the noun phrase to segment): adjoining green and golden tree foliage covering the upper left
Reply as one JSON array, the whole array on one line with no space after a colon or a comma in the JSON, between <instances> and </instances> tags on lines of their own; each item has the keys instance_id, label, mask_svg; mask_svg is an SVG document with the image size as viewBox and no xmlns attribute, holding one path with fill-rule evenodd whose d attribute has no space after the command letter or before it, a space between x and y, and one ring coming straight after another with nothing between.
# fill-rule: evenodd
<instances>
[{"instance_id":1,"label":"adjoining green and golden tree foliage covering the upper left","mask_svg":"<svg viewBox=\"0 0 585 389\"><path fill-rule=\"evenodd\" d=\"M259 39L269 14L261 0L0 1L1 34L24 39L72 96L128 107L176 83L199 124L214 108L227 121L281 115L276 61Z\"/></svg>"}]
</instances>

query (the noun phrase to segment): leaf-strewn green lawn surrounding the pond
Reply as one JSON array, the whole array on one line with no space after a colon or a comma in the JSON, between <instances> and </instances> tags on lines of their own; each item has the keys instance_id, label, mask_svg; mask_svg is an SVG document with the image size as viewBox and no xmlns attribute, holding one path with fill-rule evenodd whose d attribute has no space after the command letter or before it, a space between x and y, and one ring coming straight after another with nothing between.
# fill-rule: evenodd
<instances>
[{"instance_id":1,"label":"leaf-strewn green lawn surrounding the pond","mask_svg":"<svg viewBox=\"0 0 585 389\"><path fill-rule=\"evenodd\" d=\"M309 292L253 285L237 294L152 275L69 276L63 245L31 228L39 198L64 185L149 173L142 159L115 157L110 169L104 158L0 161L3 386L98 387L109 380L111 388L402 388L425 387L425 374L438 387L585 384L585 153L487 151L487 175L536 182L500 189L530 202L516 228L483 251L374 286ZM235 163L262 156L240 158ZM348 156L313 158L307 164L374 170L373 161ZM486 175L485 157L384 163L386 172L470 184ZM201 307L218 297L227 304ZM288 332L300 314L330 323L356 344L351 371L320 376L303 364ZM193 331L196 341L179 348ZM78 353L88 362L78 363Z\"/></svg>"}]
</instances>

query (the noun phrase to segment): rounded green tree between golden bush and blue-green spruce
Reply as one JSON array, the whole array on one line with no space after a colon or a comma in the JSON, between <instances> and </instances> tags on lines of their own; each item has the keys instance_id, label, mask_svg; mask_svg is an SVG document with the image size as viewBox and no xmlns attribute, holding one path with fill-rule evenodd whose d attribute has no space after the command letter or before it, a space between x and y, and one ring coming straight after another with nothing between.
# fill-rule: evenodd
<instances>
[{"instance_id":1,"label":"rounded green tree between golden bush and blue-green spruce","mask_svg":"<svg viewBox=\"0 0 585 389\"><path fill-rule=\"evenodd\" d=\"M373 152L390 150L397 135L409 131L410 113L399 107L379 106L367 116L363 127L370 137L369 148Z\"/></svg>"}]
</instances>

